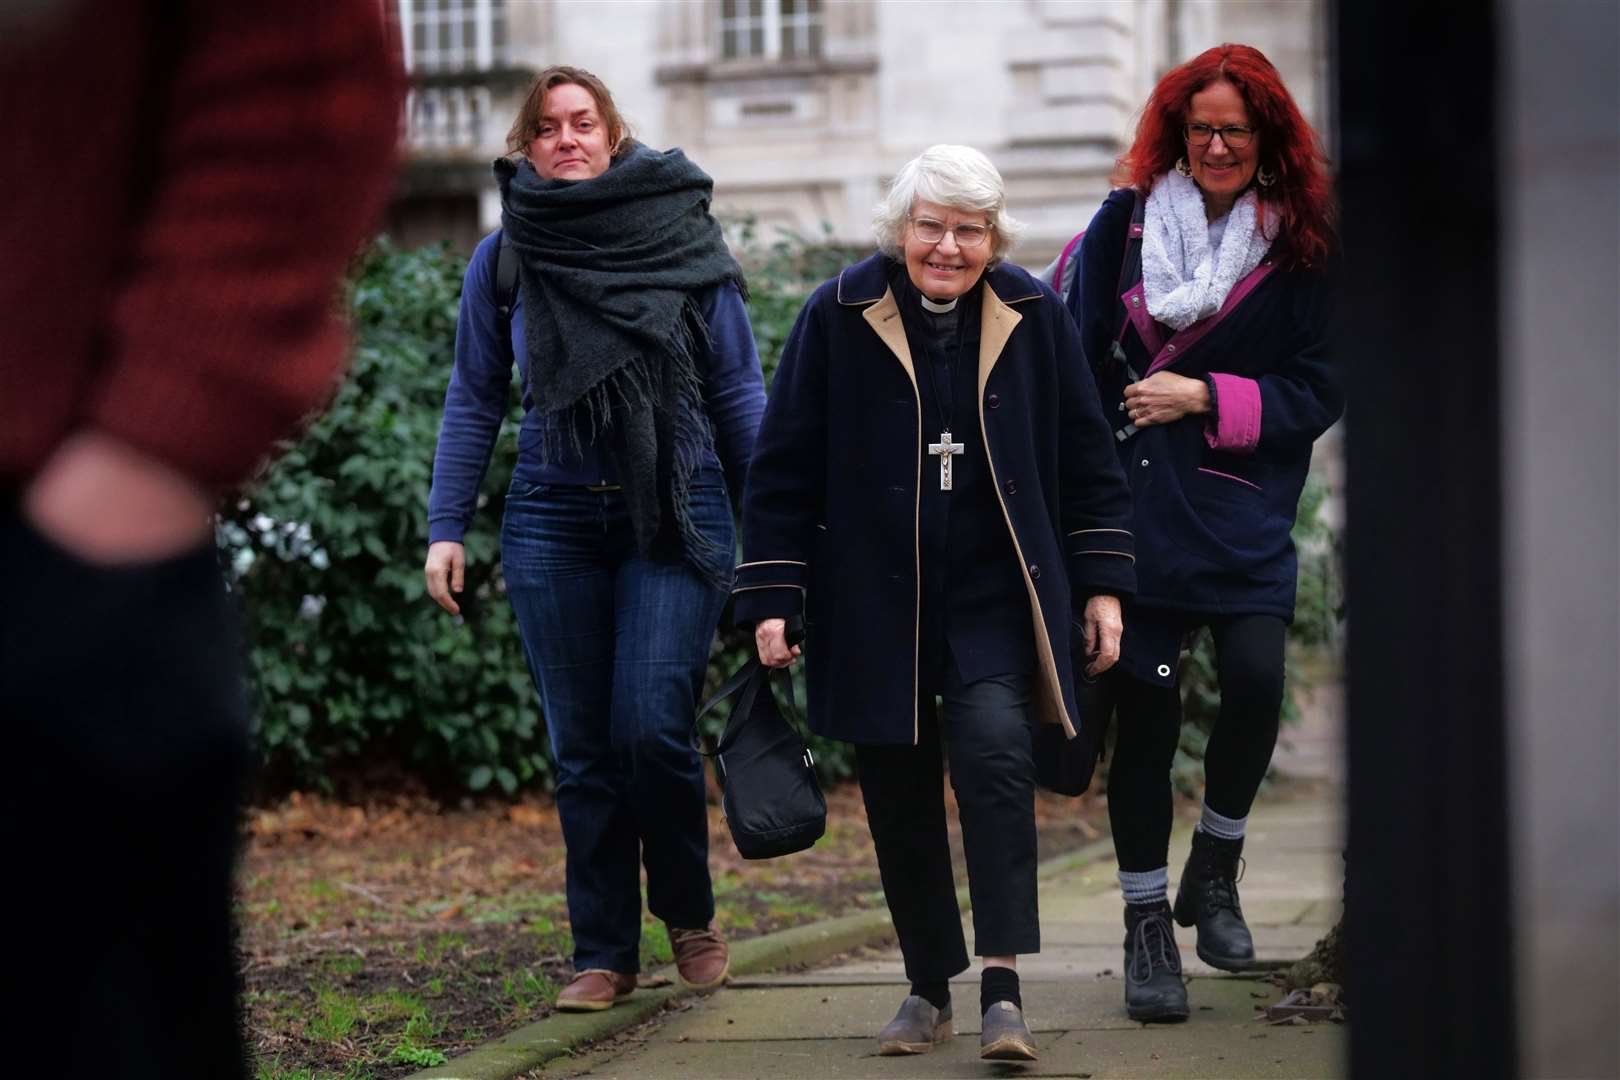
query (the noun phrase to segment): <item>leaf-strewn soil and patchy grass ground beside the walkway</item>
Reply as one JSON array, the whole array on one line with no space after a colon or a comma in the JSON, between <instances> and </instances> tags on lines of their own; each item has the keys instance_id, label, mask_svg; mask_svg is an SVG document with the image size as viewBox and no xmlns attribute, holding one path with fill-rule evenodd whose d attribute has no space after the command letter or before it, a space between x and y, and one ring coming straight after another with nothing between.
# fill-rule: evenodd
<instances>
[{"instance_id":1,"label":"leaf-strewn soil and patchy grass ground beside the walkway","mask_svg":"<svg viewBox=\"0 0 1620 1080\"><path fill-rule=\"evenodd\" d=\"M1106 805L1042 793L1037 821L1050 858L1103 836ZM295 793L251 811L245 834L237 912L258 1080L403 1077L546 1015L567 983L549 798L345 805ZM808 852L745 861L714 806L710 837L718 921L732 939L883 902L850 784L828 792L828 832ZM961 861L957 873L966 879ZM669 959L663 925L646 916L643 967Z\"/></svg>"}]
</instances>

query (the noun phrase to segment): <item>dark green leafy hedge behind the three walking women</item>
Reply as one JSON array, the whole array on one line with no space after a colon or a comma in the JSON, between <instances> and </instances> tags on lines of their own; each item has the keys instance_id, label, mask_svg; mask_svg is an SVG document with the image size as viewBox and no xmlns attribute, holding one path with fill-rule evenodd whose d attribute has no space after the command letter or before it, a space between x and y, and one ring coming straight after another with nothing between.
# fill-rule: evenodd
<instances>
[{"instance_id":1,"label":"dark green leafy hedge behind the three walking women","mask_svg":"<svg viewBox=\"0 0 1620 1080\"><path fill-rule=\"evenodd\" d=\"M862 253L823 240L765 244L744 222L732 235L748 266L748 314L766 381L805 295ZM402 251L379 241L347 291L356 347L330 410L220 517L219 539L248 622L249 674L267 787L327 787L345 772L403 767L439 787L507 793L551 779L549 748L505 602L499 523L515 460L502 429L480 510L467 534L462 617L428 599L433 450L454 359L465 259L441 246ZM1324 542L1314 487L1301 505L1302 547ZM1330 557L1302 557L1294 638L1330 633L1336 578ZM1324 597L1317 602L1315 597ZM721 633L713 688L748 654ZM1209 662L1187 678L1189 751L1209 712ZM718 725L724 716L713 717ZM813 742L825 777L852 774L844 743Z\"/></svg>"}]
</instances>

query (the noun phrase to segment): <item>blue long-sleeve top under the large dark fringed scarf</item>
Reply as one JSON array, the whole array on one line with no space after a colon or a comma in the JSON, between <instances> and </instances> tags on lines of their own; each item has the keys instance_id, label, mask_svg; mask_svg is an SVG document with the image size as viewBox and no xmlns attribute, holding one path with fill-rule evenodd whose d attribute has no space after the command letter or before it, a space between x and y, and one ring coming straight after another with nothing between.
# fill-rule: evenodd
<instances>
[{"instance_id":1,"label":"blue long-sleeve top under the large dark fringed scarf","mask_svg":"<svg viewBox=\"0 0 1620 1080\"><path fill-rule=\"evenodd\" d=\"M510 324L496 304L496 256L501 230L484 236L473 251L462 285L455 321L455 366L444 393L444 423L433 457L433 491L428 495L428 541L460 541L478 505L489 455L505 416L517 356L526 355L523 338L523 290L518 290ZM714 285L697 296L710 332L710 355L701 364L703 400L714 432L705 468L721 468L729 491L740 494L753 457L753 437L765 413L765 377L753 345L753 327L735 285ZM523 390L523 426L517 439L514 487L533 484L612 484L612 460L596 445L580 455L543 461L548 418L535 410ZM552 439L552 444L559 440ZM567 440L561 440L564 445Z\"/></svg>"}]
</instances>

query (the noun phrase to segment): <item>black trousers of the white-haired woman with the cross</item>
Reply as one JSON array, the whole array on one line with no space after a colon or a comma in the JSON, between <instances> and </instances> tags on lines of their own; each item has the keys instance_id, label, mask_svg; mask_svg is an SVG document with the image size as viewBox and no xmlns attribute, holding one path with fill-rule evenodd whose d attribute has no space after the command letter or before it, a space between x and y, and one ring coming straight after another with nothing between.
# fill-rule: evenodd
<instances>
[{"instance_id":1,"label":"black trousers of the white-haired woman with the cross","mask_svg":"<svg viewBox=\"0 0 1620 1080\"><path fill-rule=\"evenodd\" d=\"M967 970L944 814L944 755L962 821L974 952L1040 952L1030 675L922 688L915 746L857 746L883 894L914 983ZM944 708L938 711L935 691ZM943 743L943 746L941 746Z\"/></svg>"}]
</instances>

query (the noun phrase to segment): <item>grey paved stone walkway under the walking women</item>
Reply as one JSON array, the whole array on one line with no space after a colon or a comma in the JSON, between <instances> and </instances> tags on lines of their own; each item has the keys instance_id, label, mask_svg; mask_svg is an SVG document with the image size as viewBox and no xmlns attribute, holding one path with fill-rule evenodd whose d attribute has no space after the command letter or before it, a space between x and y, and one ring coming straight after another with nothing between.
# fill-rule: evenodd
<instances>
[{"instance_id":1,"label":"grey paved stone walkway under the walking women","mask_svg":"<svg viewBox=\"0 0 1620 1080\"><path fill-rule=\"evenodd\" d=\"M1338 920L1341 808L1333 789L1270 801L1249 824L1252 861L1241 884L1262 960L1293 960ZM1171 840L1171 873L1189 842ZM1171 884L1174 889L1174 884ZM1173 892L1171 892L1173 895ZM1111 858L1042 882L1042 944L1021 963L1024 1015L1040 1046L1030 1065L978 1059L978 972L953 983L957 1036L932 1054L878 1057L873 1035L906 996L897 949L802 975L739 978L642 1031L531 1077L727 1080L732 1077L1340 1077L1345 1028L1267 1025L1256 1007L1280 996L1260 976L1218 973L1179 929L1192 1018L1140 1025L1124 1014L1124 926ZM969 925L969 944L972 926Z\"/></svg>"}]
</instances>

